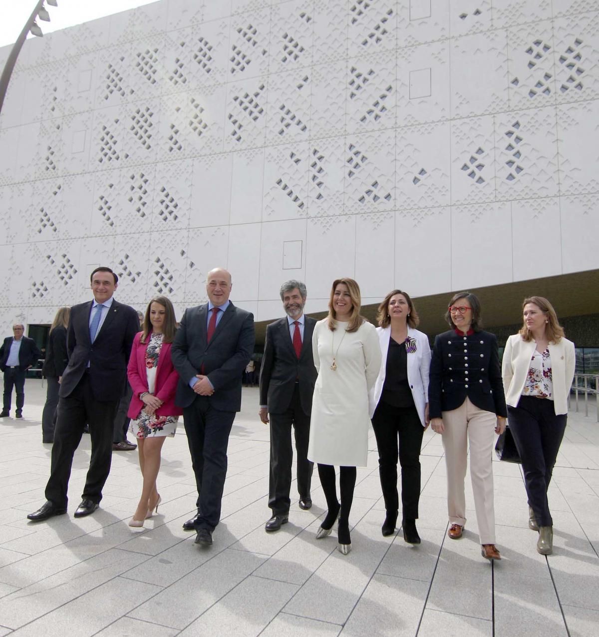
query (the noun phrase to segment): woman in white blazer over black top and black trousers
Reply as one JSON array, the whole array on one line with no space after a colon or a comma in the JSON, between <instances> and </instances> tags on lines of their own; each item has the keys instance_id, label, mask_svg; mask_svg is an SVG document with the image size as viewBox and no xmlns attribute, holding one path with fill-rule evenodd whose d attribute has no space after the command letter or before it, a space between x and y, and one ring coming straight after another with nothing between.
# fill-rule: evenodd
<instances>
[{"instance_id":1,"label":"woman in white blazer over black top and black trousers","mask_svg":"<svg viewBox=\"0 0 599 637\"><path fill-rule=\"evenodd\" d=\"M419 544L416 519L420 498L420 447L428 427L430 347L426 334L416 329L418 314L406 292L389 292L379 305L377 319L382 361L370 390L369 412L379 450L379 476L386 510L381 531L384 536L395 533L399 460L404 540Z\"/></svg>"}]
</instances>

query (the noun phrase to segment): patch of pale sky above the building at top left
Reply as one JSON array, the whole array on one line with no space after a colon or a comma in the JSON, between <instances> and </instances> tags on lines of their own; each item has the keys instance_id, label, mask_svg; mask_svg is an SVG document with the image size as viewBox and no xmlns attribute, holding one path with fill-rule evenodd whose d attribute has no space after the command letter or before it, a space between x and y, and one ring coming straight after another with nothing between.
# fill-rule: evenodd
<instances>
[{"instance_id":1,"label":"patch of pale sky above the building at top left","mask_svg":"<svg viewBox=\"0 0 599 637\"><path fill-rule=\"evenodd\" d=\"M45 4L50 13L50 22L38 19L44 33L66 29L75 24L102 18L111 13L150 4L156 0L57 0L58 6ZM13 44L18 38L38 0L0 0L0 47ZM34 37L29 34L29 37Z\"/></svg>"}]
</instances>

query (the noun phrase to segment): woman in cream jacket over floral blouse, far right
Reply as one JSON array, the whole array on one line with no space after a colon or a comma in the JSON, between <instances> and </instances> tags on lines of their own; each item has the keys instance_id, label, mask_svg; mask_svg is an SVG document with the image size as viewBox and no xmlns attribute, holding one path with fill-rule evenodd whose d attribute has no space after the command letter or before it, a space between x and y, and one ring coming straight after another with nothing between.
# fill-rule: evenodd
<instances>
[{"instance_id":1,"label":"woman in cream jacket over floral blouse, far right","mask_svg":"<svg viewBox=\"0 0 599 637\"><path fill-rule=\"evenodd\" d=\"M524 300L524 325L505 343L502 377L509 426L522 459L528 526L539 531L537 551L553 552L547 488L560 450L574 378L574 343L564 338L551 303Z\"/></svg>"}]
</instances>

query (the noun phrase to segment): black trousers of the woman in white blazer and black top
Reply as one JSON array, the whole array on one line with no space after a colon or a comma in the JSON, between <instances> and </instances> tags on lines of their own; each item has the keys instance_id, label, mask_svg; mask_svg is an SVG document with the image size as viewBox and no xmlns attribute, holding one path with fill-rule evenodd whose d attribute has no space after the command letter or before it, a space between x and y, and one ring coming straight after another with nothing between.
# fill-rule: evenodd
<instances>
[{"instance_id":1,"label":"black trousers of the woman in white blazer and black top","mask_svg":"<svg viewBox=\"0 0 599 637\"><path fill-rule=\"evenodd\" d=\"M372 417L372 429L379 450L379 476L384 507L399 509L397 460L402 468L402 509L404 519L418 518L420 499L420 448L424 427L416 407L393 407L381 401Z\"/></svg>"}]
</instances>

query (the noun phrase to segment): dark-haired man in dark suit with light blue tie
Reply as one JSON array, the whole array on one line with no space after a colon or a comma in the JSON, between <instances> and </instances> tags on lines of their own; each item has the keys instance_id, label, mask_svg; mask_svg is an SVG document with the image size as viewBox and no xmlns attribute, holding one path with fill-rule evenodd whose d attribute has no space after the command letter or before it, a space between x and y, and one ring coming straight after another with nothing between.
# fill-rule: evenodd
<instances>
[{"instance_id":1,"label":"dark-haired man in dark suit with light blue tie","mask_svg":"<svg viewBox=\"0 0 599 637\"><path fill-rule=\"evenodd\" d=\"M73 455L86 423L92 457L75 517L98 508L110 471L113 422L139 321L133 308L113 298L118 276L110 268L96 268L90 280L94 301L71 308L67 328L69 364L60 381L50 480L46 503L27 515L34 522L66 513Z\"/></svg>"}]
</instances>

